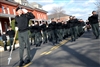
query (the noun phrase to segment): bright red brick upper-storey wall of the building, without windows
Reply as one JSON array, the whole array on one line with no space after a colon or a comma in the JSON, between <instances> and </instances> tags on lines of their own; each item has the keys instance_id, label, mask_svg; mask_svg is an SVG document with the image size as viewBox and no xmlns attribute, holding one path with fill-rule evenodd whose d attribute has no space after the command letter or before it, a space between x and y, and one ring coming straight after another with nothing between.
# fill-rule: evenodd
<instances>
[{"instance_id":1,"label":"bright red brick upper-storey wall of the building, without windows","mask_svg":"<svg viewBox=\"0 0 100 67\"><path fill-rule=\"evenodd\" d=\"M5 8L6 14L8 14L7 8L9 8L10 14L14 15L13 9L16 9L16 6L12 6L12 5L8 5L8 4L1 4L0 5L0 13L2 13L2 6ZM33 10L33 11L28 10L28 11L32 12L35 15L36 19L47 19L46 13L43 13L38 10Z\"/></svg>"}]
</instances>

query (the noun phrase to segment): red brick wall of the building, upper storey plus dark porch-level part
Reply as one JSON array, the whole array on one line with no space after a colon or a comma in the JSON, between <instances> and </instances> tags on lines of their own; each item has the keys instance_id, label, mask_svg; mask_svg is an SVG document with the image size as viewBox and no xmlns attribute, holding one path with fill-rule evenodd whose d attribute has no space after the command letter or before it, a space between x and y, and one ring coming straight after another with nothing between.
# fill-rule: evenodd
<instances>
[{"instance_id":1,"label":"red brick wall of the building, upper storey plus dark porch-level part","mask_svg":"<svg viewBox=\"0 0 100 67\"><path fill-rule=\"evenodd\" d=\"M8 11L7 11L7 8L9 8L9 13L11 15L14 15L14 12L13 12L13 9L16 9L17 8L17 5L11 5L11 4L6 4L6 3L1 3L0 2L0 13L3 13L2 11L2 6L4 7L5 9L5 14L8 14ZM34 15L35 15L35 19L45 19L47 20L47 14L45 12L42 12L42 11L38 11L38 10L31 10L31 9L28 9L28 11L32 12ZM0 17L0 22L2 24L2 29L3 31L5 31L5 22L7 22L7 25L9 26L9 18L5 17Z\"/></svg>"}]
</instances>

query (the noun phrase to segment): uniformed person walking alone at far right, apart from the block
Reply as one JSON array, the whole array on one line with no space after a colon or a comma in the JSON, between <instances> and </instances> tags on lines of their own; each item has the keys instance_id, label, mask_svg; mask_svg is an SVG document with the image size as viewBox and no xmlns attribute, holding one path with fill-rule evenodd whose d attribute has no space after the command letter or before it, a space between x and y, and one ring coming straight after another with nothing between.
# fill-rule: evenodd
<instances>
[{"instance_id":1,"label":"uniformed person walking alone at far right, apart from the block","mask_svg":"<svg viewBox=\"0 0 100 67\"><path fill-rule=\"evenodd\" d=\"M90 16L88 18L92 30L93 30L93 34L95 35L96 39L99 38L99 22L98 22L98 14L96 13L96 11L92 12L92 16Z\"/></svg>"}]
</instances>

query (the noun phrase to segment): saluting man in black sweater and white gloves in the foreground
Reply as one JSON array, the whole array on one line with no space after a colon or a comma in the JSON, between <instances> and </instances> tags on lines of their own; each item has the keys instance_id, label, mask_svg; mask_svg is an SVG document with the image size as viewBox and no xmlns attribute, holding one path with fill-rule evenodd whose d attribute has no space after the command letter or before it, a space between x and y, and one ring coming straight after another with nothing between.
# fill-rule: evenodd
<instances>
[{"instance_id":1,"label":"saluting man in black sweater and white gloves in the foreground","mask_svg":"<svg viewBox=\"0 0 100 67\"><path fill-rule=\"evenodd\" d=\"M17 16L15 17L15 24L18 26L18 39L19 39L19 57L20 63L19 66L23 66L24 64L28 64L31 61L30 58L30 44L29 44L29 20L34 19L35 16L28 12L26 9L22 9L21 7L16 8ZM26 61L23 60L24 54L24 45L27 48L27 59Z\"/></svg>"}]
</instances>

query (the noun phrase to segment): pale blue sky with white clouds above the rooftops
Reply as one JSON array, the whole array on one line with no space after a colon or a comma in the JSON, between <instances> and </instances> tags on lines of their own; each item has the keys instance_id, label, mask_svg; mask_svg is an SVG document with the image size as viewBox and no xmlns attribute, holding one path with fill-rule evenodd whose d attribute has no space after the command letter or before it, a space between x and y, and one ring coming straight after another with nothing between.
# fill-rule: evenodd
<instances>
[{"instance_id":1,"label":"pale blue sky with white clouds above the rooftops","mask_svg":"<svg viewBox=\"0 0 100 67\"><path fill-rule=\"evenodd\" d=\"M62 6L66 14L76 16L86 20L93 10L96 10L96 0L28 0L37 2L43 6L43 9L50 14L53 7Z\"/></svg>"}]
</instances>

